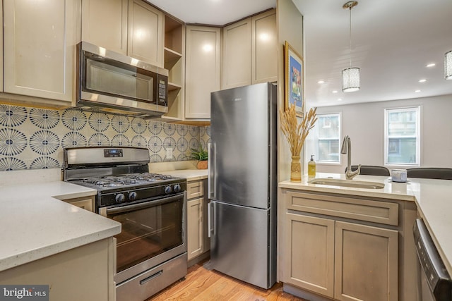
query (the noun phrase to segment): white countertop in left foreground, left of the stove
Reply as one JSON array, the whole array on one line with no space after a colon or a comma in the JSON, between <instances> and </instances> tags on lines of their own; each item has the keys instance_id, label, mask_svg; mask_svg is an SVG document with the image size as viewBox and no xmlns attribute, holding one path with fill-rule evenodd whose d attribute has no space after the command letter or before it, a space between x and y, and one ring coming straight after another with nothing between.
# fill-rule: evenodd
<instances>
[{"instance_id":1,"label":"white countertop in left foreground, left of the stove","mask_svg":"<svg viewBox=\"0 0 452 301\"><path fill-rule=\"evenodd\" d=\"M0 271L120 233L120 223L59 200L96 193L61 181L0 186Z\"/></svg>"}]
</instances>

